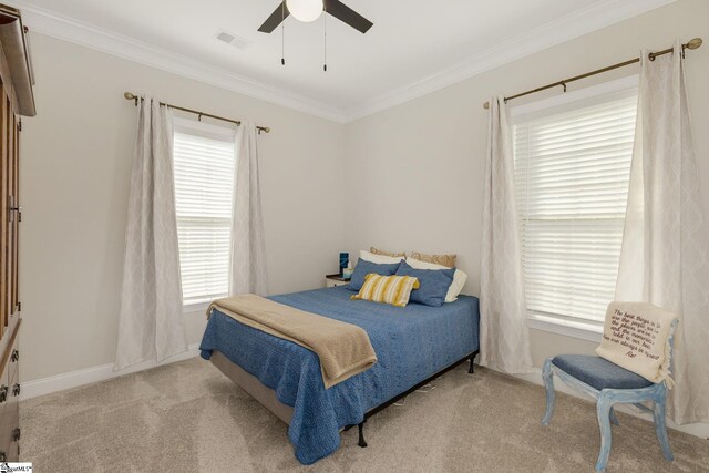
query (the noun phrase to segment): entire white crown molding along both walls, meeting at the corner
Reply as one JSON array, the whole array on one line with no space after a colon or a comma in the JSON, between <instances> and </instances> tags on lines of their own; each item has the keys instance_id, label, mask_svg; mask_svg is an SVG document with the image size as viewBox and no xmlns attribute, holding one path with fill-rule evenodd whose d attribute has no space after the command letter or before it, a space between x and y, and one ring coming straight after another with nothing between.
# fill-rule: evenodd
<instances>
[{"instance_id":1,"label":"entire white crown molding along both walls, meeting at the corner","mask_svg":"<svg viewBox=\"0 0 709 473\"><path fill-rule=\"evenodd\" d=\"M351 109L298 95L224 68L78 21L25 0L9 0L8 3L22 11L24 24L29 24L33 32L345 124L675 1L677 0L604 0L465 58L448 69L371 97Z\"/></svg>"}]
</instances>

